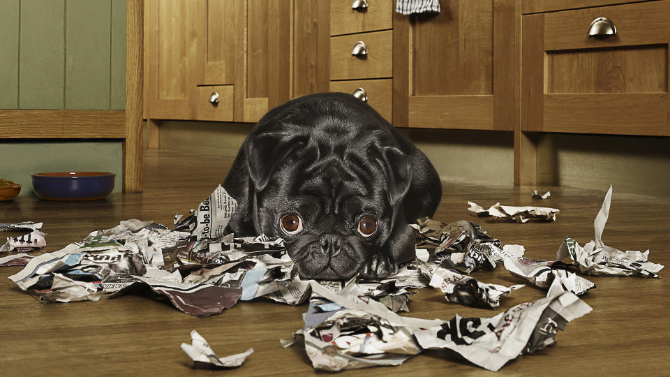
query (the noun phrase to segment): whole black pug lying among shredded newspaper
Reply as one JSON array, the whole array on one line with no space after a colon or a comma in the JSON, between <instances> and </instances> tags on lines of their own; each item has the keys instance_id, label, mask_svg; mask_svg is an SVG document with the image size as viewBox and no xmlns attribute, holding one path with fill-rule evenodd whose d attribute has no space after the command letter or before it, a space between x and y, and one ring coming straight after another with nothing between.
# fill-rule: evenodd
<instances>
[{"instance_id":1,"label":"whole black pug lying among shredded newspaper","mask_svg":"<svg viewBox=\"0 0 670 377\"><path fill-rule=\"evenodd\" d=\"M369 105L312 94L270 110L223 184L236 236L285 239L302 279L377 278L415 258L408 225L442 197L428 158Z\"/></svg>"}]
</instances>

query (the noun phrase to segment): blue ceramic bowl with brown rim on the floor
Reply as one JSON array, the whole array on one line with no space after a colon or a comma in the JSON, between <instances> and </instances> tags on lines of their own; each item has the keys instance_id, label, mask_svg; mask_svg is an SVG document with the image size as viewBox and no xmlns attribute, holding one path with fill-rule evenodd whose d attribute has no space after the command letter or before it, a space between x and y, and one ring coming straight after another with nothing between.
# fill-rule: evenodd
<instances>
[{"instance_id":1,"label":"blue ceramic bowl with brown rim on the floor","mask_svg":"<svg viewBox=\"0 0 670 377\"><path fill-rule=\"evenodd\" d=\"M32 175L33 190L46 200L97 200L110 195L110 172L44 172Z\"/></svg>"}]
</instances>

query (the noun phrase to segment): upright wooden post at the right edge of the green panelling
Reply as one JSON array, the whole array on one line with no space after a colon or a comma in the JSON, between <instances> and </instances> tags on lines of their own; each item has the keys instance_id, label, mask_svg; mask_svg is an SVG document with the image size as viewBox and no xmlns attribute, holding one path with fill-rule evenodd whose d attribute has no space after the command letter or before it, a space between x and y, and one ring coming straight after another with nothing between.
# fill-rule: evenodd
<instances>
[{"instance_id":1,"label":"upright wooden post at the right edge of the green panelling","mask_svg":"<svg viewBox=\"0 0 670 377\"><path fill-rule=\"evenodd\" d=\"M124 140L126 193L142 192L143 29L143 0L126 0L126 138Z\"/></svg>"}]
</instances>

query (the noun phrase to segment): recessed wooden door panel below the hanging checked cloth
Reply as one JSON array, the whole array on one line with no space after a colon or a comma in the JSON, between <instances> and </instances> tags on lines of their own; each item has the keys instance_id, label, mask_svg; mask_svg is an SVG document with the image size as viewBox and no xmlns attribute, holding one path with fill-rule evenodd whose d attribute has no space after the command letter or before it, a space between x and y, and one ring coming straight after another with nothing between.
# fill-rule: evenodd
<instances>
[{"instance_id":1,"label":"recessed wooden door panel below the hanging checked cloth","mask_svg":"<svg viewBox=\"0 0 670 377\"><path fill-rule=\"evenodd\" d=\"M412 34L415 96L493 94L493 1L442 3L439 15L417 17Z\"/></svg>"}]
</instances>

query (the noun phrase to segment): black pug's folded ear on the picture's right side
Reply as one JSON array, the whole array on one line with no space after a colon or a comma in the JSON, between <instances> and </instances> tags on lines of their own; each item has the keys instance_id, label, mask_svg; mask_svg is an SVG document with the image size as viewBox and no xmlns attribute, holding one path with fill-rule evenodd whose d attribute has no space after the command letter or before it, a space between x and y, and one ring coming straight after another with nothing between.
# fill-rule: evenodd
<instances>
[{"instance_id":1,"label":"black pug's folded ear on the picture's right side","mask_svg":"<svg viewBox=\"0 0 670 377\"><path fill-rule=\"evenodd\" d=\"M383 148L381 154L382 160L379 163L386 176L389 202L394 206L410 189L412 183L410 159L396 147Z\"/></svg>"}]
</instances>

